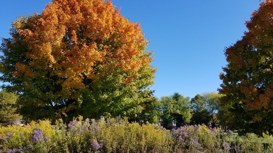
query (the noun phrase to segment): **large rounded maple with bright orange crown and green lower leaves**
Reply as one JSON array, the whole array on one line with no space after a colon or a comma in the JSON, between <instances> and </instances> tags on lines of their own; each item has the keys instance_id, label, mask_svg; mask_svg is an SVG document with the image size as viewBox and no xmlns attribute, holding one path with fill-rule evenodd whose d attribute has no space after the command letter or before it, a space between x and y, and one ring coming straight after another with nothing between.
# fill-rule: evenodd
<instances>
[{"instance_id":1,"label":"large rounded maple with bright orange crown and green lower leaves","mask_svg":"<svg viewBox=\"0 0 273 153\"><path fill-rule=\"evenodd\" d=\"M156 71L139 23L111 0L53 0L12 23L3 39L1 81L31 119L136 116Z\"/></svg>"}]
</instances>

